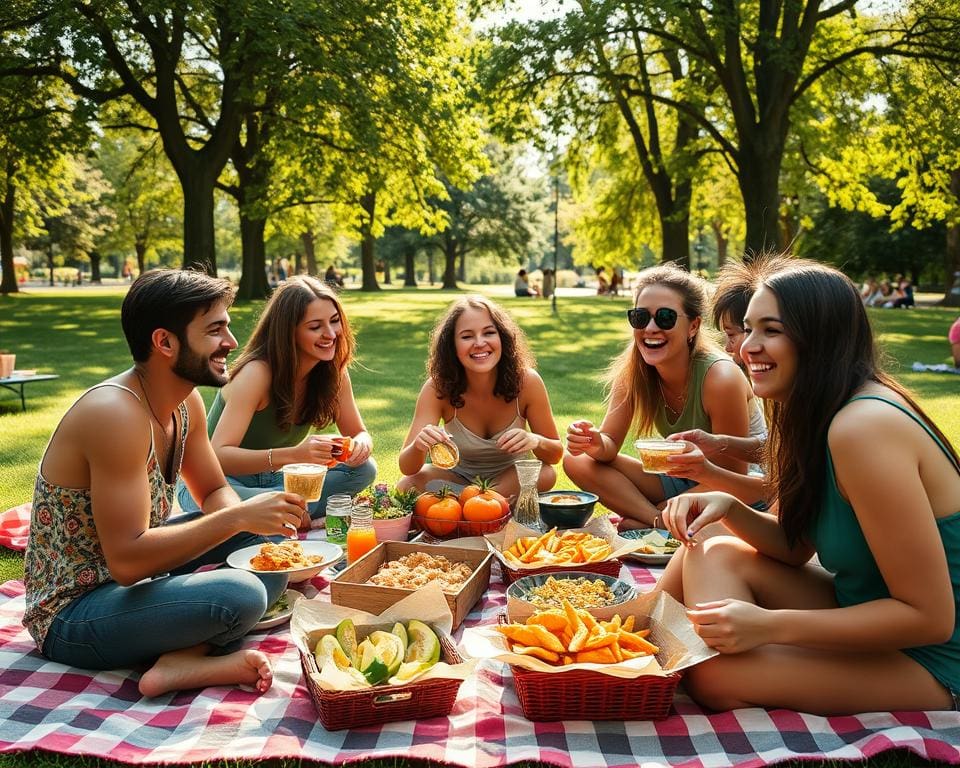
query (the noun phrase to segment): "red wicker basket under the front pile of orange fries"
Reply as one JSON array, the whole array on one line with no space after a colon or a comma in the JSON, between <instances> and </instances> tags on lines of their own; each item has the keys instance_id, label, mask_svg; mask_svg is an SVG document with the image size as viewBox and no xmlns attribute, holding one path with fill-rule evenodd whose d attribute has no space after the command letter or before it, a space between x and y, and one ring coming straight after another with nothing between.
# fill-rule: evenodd
<instances>
[{"instance_id":1,"label":"red wicker basket under the front pile of orange fries","mask_svg":"<svg viewBox=\"0 0 960 768\"><path fill-rule=\"evenodd\" d=\"M661 720L670 713L682 673L633 679L601 672L536 672L510 665L528 720Z\"/></svg>"}]
</instances>

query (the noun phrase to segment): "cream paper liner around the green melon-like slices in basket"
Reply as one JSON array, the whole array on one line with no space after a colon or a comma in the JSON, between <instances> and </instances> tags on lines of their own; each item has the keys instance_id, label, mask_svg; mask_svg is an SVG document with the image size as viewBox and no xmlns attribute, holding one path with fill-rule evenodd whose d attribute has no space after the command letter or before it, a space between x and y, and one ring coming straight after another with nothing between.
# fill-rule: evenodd
<instances>
[{"instance_id":1,"label":"cream paper liner around the green melon-like slices in basket","mask_svg":"<svg viewBox=\"0 0 960 768\"><path fill-rule=\"evenodd\" d=\"M337 624L344 619L353 619L357 627L358 639L366 637L377 629L389 632L395 622L406 623L410 619L418 619L448 637L453 626L453 614L450 613L443 590L437 582L432 581L422 589L394 603L379 616L320 600L297 600L290 619L290 634L300 650L312 655L320 638L333 634ZM453 642L452 638L450 642ZM409 685L412 682L434 678L465 680L473 673L476 664L475 659L465 659L461 664L438 661L426 672L405 680L402 684ZM317 685L327 691L368 691L371 688L337 670L333 665L327 665L322 674L314 676L314 679ZM386 684L383 687L389 688L390 685Z\"/></svg>"}]
</instances>

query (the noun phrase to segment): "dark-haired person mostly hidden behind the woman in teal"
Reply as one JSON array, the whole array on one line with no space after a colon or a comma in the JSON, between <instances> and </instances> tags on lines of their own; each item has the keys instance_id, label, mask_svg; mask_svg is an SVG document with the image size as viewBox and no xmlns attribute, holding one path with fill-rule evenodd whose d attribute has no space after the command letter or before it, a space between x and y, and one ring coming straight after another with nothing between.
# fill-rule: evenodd
<instances>
[{"instance_id":1,"label":"dark-haired person mostly hidden behind the woman in teal","mask_svg":"<svg viewBox=\"0 0 960 768\"><path fill-rule=\"evenodd\" d=\"M775 259L776 262L775 262ZM786 266L789 259L766 257L766 263ZM730 355L746 374L746 365L740 357L740 345L746 338L743 329L743 316L747 304L753 295L753 271L742 262L728 262L717 276L716 290L713 294L713 323L723 331L724 351ZM668 440L684 440L688 450L667 457L671 466L669 474L673 477L686 477L696 480L712 490L726 491L747 504L764 507L767 487L760 467L763 445L767 439L767 423L764 418L763 404L758 397L751 397L749 404L750 425L747 437L711 434L702 429L675 432ZM731 472L715 464L711 459L718 456L731 456L734 459L750 463L746 475Z\"/></svg>"}]
</instances>

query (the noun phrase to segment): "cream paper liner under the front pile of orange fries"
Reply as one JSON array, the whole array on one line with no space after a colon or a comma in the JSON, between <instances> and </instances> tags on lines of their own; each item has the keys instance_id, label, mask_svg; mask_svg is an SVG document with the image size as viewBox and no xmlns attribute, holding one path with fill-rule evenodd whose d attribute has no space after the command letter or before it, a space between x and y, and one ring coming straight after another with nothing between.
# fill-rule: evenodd
<instances>
[{"instance_id":1,"label":"cream paper liner under the front pile of orange fries","mask_svg":"<svg viewBox=\"0 0 960 768\"><path fill-rule=\"evenodd\" d=\"M616 664L555 666L534 656L513 653L507 638L490 626L464 630L461 647L473 658L496 659L537 672L563 674L573 669L588 669L624 678L670 675L717 655L717 651L707 647L696 633L686 609L666 592L648 592L617 606L617 609L622 618L636 617L636 629L650 628L647 639L660 648L655 657L629 659Z\"/></svg>"}]
</instances>

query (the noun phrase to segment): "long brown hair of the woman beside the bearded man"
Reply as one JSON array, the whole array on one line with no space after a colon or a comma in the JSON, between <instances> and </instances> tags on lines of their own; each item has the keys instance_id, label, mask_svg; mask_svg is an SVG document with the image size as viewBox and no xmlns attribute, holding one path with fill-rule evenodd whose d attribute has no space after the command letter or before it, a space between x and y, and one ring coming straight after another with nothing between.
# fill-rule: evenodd
<instances>
[{"instance_id":1,"label":"long brown hair of the woman beside the bearded man","mask_svg":"<svg viewBox=\"0 0 960 768\"><path fill-rule=\"evenodd\" d=\"M337 308L340 335L333 360L321 360L307 375L300 407L294 412L299 363L297 326L303 320L307 307L317 299L330 301ZM356 342L350 322L337 294L314 277L297 275L288 278L273 292L230 377L236 376L251 360L264 361L270 366L270 400L277 410L277 425L284 430L293 424L325 427L336 421L340 381L343 371L353 362L355 351Z\"/></svg>"}]
</instances>

